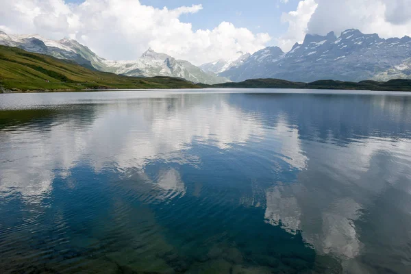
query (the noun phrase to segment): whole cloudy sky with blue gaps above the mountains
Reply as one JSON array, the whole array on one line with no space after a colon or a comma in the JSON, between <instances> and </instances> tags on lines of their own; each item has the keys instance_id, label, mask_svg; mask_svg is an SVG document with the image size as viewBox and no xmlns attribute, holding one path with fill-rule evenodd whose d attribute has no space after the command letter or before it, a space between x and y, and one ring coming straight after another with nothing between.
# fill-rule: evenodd
<instances>
[{"instance_id":1,"label":"whole cloudy sky with blue gaps above the mountains","mask_svg":"<svg viewBox=\"0 0 411 274\"><path fill-rule=\"evenodd\" d=\"M411 36L411 0L0 0L0 30L73 38L109 60L149 47L199 65L345 29Z\"/></svg>"}]
</instances>

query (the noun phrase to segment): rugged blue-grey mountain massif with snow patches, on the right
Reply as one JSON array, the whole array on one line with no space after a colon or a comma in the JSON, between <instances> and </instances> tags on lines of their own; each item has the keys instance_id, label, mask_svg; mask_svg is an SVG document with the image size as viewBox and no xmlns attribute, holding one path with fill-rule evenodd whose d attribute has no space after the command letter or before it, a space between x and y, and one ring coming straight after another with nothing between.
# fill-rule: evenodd
<instances>
[{"instance_id":1,"label":"rugged blue-grey mountain massif with snow patches, on the right","mask_svg":"<svg viewBox=\"0 0 411 274\"><path fill-rule=\"evenodd\" d=\"M219 73L234 82L279 78L312 82L318 79L361 81L411 78L411 38L379 38L347 29L339 37L308 34L302 44L283 53L277 47L257 51L240 66Z\"/></svg>"}]
</instances>

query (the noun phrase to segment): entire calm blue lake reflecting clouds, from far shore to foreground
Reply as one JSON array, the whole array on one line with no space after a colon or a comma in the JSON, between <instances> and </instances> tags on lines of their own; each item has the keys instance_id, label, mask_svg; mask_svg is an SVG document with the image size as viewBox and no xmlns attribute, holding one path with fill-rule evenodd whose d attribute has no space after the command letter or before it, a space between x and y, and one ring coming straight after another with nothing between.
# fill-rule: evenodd
<instances>
[{"instance_id":1,"label":"entire calm blue lake reflecting clouds, from far shore to foreground","mask_svg":"<svg viewBox=\"0 0 411 274\"><path fill-rule=\"evenodd\" d=\"M1 273L410 273L410 95L214 91L0 95Z\"/></svg>"}]
</instances>

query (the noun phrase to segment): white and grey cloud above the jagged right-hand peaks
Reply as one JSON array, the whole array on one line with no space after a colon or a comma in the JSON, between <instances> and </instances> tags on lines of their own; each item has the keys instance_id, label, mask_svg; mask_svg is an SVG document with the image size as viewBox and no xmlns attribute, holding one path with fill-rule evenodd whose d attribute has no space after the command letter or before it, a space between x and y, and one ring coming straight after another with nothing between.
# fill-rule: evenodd
<instances>
[{"instance_id":1,"label":"white and grey cloud above the jagged right-hand peaks","mask_svg":"<svg viewBox=\"0 0 411 274\"><path fill-rule=\"evenodd\" d=\"M411 35L410 0L303 0L297 9L282 15L288 31L277 43L288 51L305 34L360 29L384 38Z\"/></svg>"}]
</instances>

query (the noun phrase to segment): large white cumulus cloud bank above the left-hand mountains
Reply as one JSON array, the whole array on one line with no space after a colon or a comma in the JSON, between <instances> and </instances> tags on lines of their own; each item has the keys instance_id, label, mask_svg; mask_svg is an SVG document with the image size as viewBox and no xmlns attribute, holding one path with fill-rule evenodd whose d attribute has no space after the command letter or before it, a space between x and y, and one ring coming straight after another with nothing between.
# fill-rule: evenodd
<instances>
[{"instance_id":1,"label":"large white cumulus cloud bank above the left-hand mountains","mask_svg":"<svg viewBox=\"0 0 411 274\"><path fill-rule=\"evenodd\" d=\"M86 44L103 58L129 60L149 47L195 64L229 58L237 51L254 52L271 40L246 28L222 22L214 29L192 29L179 20L202 5L153 8L138 0L0 0L0 26L17 34L64 36Z\"/></svg>"}]
</instances>

